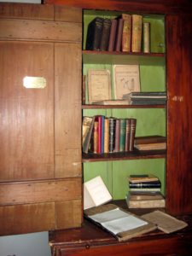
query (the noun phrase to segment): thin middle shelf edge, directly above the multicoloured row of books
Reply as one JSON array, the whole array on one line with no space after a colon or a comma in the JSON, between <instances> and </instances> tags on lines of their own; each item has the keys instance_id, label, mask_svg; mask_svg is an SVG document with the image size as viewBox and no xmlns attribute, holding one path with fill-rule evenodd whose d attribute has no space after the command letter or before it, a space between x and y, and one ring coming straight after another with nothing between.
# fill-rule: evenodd
<instances>
[{"instance_id":1,"label":"thin middle shelf edge, directly above the multicoloured row of books","mask_svg":"<svg viewBox=\"0 0 192 256\"><path fill-rule=\"evenodd\" d=\"M166 105L82 105L81 108L166 108Z\"/></svg>"}]
</instances>

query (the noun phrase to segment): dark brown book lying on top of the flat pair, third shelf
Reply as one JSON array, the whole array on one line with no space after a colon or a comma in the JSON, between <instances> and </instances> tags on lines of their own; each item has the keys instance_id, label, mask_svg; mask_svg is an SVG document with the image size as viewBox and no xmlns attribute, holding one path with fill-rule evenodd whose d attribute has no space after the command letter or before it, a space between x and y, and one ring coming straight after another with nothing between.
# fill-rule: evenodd
<instances>
[{"instance_id":1,"label":"dark brown book lying on top of the flat pair, third shelf","mask_svg":"<svg viewBox=\"0 0 192 256\"><path fill-rule=\"evenodd\" d=\"M135 137L134 145L148 143L166 143L166 137L160 135Z\"/></svg>"}]
</instances>

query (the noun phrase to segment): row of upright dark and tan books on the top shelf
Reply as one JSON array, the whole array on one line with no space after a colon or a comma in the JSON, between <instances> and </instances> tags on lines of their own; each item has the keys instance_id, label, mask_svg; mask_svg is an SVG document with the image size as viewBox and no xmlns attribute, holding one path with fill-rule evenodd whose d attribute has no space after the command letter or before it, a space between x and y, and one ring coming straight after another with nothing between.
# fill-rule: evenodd
<instances>
[{"instance_id":1,"label":"row of upright dark and tan books on the top shelf","mask_svg":"<svg viewBox=\"0 0 192 256\"><path fill-rule=\"evenodd\" d=\"M113 20L96 17L88 25L85 49L141 52L144 32L144 52L149 52L150 26L144 24L142 15L122 14Z\"/></svg>"}]
</instances>

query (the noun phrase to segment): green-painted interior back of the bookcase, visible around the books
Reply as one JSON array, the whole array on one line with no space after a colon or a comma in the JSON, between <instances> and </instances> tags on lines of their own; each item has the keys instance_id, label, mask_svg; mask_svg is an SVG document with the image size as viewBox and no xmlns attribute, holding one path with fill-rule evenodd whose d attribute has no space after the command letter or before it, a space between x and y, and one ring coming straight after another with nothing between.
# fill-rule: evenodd
<instances>
[{"instance_id":1,"label":"green-painted interior back of the bookcase, visible around the books","mask_svg":"<svg viewBox=\"0 0 192 256\"><path fill-rule=\"evenodd\" d=\"M166 91L165 17L143 15L143 22L150 22L151 54L101 52L85 50L87 26L96 16L113 19L119 12L84 10L83 74L87 69L108 69L111 72L113 90L113 65L140 65L141 91ZM130 13L129 13L130 14ZM88 105L86 93L83 116L104 115L115 118L137 119L136 137L166 136L166 106L95 106ZM83 154L84 182L100 175L113 199L125 199L130 174L152 173L160 178L161 193L166 194L166 151L150 151L148 154Z\"/></svg>"}]
</instances>

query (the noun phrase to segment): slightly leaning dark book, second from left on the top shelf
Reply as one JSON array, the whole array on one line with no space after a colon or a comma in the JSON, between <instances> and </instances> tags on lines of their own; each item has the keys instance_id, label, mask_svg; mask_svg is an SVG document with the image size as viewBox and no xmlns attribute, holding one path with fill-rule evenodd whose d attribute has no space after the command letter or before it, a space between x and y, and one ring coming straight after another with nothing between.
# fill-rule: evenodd
<instances>
[{"instance_id":1,"label":"slightly leaning dark book, second from left on the top shelf","mask_svg":"<svg viewBox=\"0 0 192 256\"><path fill-rule=\"evenodd\" d=\"M111 29L111 20L108 18L103 18L100 50L108 50L108 39L109 39L110 29Z\"/></svg>"}]
</instances>

